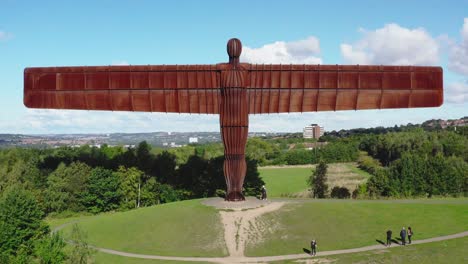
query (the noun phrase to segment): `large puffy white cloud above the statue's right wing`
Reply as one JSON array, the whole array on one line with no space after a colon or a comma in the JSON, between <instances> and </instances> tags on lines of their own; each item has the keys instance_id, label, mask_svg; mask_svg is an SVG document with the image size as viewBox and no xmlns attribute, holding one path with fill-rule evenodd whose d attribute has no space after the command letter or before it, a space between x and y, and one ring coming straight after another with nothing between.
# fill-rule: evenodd
<instances>
[{"instance_id":1,"label":"large puffy white cloud above the statue's right wing","mask_svg":"<svg viewBox=\"0 0 468 264\"><path fill-rule=\"evenodd\" d=\"M434 65L439 44L423 28L387 24L376 30L360 29L363 37L341 44L341 55L350 64Z\"/></svg>"}]
</instances>

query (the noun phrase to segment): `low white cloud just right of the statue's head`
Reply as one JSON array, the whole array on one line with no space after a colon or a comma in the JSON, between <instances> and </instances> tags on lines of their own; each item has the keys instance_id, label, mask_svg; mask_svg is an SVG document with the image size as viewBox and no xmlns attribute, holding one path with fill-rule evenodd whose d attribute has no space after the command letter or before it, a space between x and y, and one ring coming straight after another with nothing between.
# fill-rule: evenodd
<instances>
[{"instance_id":1,"label":"low white cloud just right of the statue's head","mask_svg":"<svg viewBox=\"0 0 468 264\"><path fill-rule=\"evenodd\" d=\"M298 41L276 41L260 48L243 47L241 61L249 63L321 64L320 42L316 37Z\"/></svg>"}]
</instances>

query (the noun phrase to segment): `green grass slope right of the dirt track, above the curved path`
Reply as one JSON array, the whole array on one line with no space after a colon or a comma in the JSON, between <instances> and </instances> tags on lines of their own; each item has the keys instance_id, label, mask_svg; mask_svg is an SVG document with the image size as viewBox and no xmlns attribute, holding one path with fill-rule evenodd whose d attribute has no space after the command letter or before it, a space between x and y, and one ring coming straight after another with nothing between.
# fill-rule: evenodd
<instances>
[{"instance_id":1,"label":"green grass slope right of the dirt track, above the curved path","mask_svg":"<svg viewBox=\"0 0 468 264\"><path fill-rule=\"evenodd\" d=\"M316 238L320 250L356 248L384 240L391 228L396 236L411 226L414 239L468 230L468 200L338 201L289 204L262 216L265 226L276 227L263 241L248 244L247 256L301 253Z\"/></svg>"}]
</instances>

